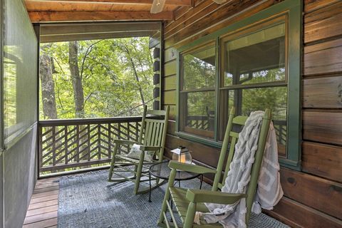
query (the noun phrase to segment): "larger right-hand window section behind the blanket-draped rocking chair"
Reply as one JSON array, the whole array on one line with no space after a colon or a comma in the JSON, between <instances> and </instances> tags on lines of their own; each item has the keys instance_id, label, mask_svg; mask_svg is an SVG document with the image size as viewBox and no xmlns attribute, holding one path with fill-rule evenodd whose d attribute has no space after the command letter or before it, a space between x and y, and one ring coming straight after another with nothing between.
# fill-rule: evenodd
<instances>
[{"instance_id":1,"label":"larger right-hand window section behind the blanket-draped rocking chair","mask_svg":"<svg viewBox=\"0 0 342 228\"><path fill-rule=\"evenodd\" d=\"M271 108L279 155L286 157L287 44L286 18L246 29L221 39L219 140L223 140L229 110L238 115Z\"/></svg>"}]
</instances>

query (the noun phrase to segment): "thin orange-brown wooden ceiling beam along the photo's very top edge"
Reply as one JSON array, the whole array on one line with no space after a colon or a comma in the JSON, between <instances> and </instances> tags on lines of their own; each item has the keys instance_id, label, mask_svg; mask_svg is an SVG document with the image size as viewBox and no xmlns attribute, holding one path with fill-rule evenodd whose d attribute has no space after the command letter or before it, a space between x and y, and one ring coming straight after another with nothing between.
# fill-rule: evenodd
<instances>
[{"instance_id":1,"label":"thin orange-brown wooden ceiling beam along the photo's very top edge","mask_svg":"<svg viewBox=\"0 0 342 228\"><path fill-rule=\"evenodd\" d=\"M27 2L53 2L56 0L25 0ZM153 0L58 0L58 2L78 2L78 3L88 3L88 4L99 4L99 3L112 3L112 4L152 4ZM192 0L167 0L165 1L167 5L173 6L192 6Z\"/></svg>"}]
</instances>

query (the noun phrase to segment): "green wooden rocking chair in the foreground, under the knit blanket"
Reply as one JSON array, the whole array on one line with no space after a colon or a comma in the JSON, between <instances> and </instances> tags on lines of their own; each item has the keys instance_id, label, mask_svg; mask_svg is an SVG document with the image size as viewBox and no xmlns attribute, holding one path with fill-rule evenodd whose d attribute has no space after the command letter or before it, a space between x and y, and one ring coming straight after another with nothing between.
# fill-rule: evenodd
<instances>
[{"instance_id":1,"label":"green wooden rocking chair in the foreground, under the knit blanket","mask_svg":"<svg viewBox=\"0 0 342 228\"><path fill-rule=\"evenodd\" d=\"M257 190L257 182L259 179L259 171L261 167L261 161L264 155L264 148L266 144L267 134L269 132L269 124L271 121L271 111L266 109L260 134L258 140L258 149L255 154L254 164L252 166L251 179L247 187L246 194L232 194L227 192L220 192L224 185L224 180L226 179L229 171L229 165L232 162L234 155L234 148L237 140L239 138L239 133L232 130L233 125L244 125L247 120L246 116L236 116L235 109L232 108L229 113L229 120L227 123L226 132L224 135L224 141L222 144L222 149L219 155L219 162L217 164L217 169L212 170L207 167L201 167L199 165L182 164L180 162L171 161L169 167L172 169L170 173L170 179L167 184L167 190L165 192L164 201L162 202L162 211L160 212L160 218L158 220L159 227L178 227L175 222L175 215L173 214L173 209L170 206L169 200L171 199L175 205L175 210L180 215L182 225L180 227L190 228L190 227L222 227L221 224L194 224L195 212L209 212L209 209L205 206L207 203L217 203L217 204L234 204L238 202L239 199L246 198L247 202L247 214L246 222L249 220L249 216L252 211L252 204L255 192ZM225 165L224 175L222 177L222 170L224 166L224 160L227 155L227 148L230 142L229 154L227 157L227 162ZM214 182L212 185L212 190L187 190L179 187L174 187L173 183L175 180L176 170L183 170L187 172L196 172L199 174L212 173L215 174ZM221 178L222 177L222 178ZM172 205L172 204L171 204ZM172 222L167 219L167 210L170 212L170 217Z\"/></svg>"}]
</instances>

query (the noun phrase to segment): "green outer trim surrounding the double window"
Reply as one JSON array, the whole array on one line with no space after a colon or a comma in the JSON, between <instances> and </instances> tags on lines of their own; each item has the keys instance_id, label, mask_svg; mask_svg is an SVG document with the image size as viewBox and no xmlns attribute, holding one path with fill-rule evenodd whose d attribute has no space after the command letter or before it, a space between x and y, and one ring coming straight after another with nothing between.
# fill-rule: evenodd
<instances>
[{"instance_id":1,"label":"green outer trim surrounding the double window","mask_svg":"<svg viewBox=\"0 0 342 228\"><path fill-rule=\"evenodd\" d=\"M193 41L181 48L178 48L177 54L177 88L176 88L176 134L180 138L199 142L204 145L212 147L221 147L222 142L218 139L218 114L219 114L219 41L222 36L228 33L234 33L240 28L257 24L261 21L274 19L276 17L287 15L288 23L288 104L287 104L287 154L285 157L279 157L279 162L283 167L289 167L294 170L301 170L301 53L302 53L302 1L301 0L286 0L279 4L270 6L263 11L260 11L247 19L238 21L230 26L222 28L214 33ZM217 80L215 89L215 111L217 115L214 118L214 139L201 138L197 135L180 132L180 65L181 53L188 51L192 48L202 46L204 43L215 41L216 43L216 63L217 64Z\"/></svg>"}]
</instances>

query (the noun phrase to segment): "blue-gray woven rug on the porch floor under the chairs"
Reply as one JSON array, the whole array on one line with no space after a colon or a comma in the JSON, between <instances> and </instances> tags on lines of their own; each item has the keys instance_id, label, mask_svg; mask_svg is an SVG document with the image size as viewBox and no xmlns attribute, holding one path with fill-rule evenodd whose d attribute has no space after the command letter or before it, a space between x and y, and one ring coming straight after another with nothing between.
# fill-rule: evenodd
<instances>
[{"instance_id":1,"label":"blue-gray woven rug on the porch floor under the chairs","mask_svg":"<svg viewBox=\"0 0 342 228\"><path fill-rule=\"evenodd\" d=\"M148 194L133 195L133 182L107 182L105 170L61 177L58 197L59 228L157 227L165 186ZM199 188L199 179L182 182L182 187ZM203 183L202 189L210 189ZM252 214L249 227L287 228L265 214Z\"/></svg>"}]
</instances>

